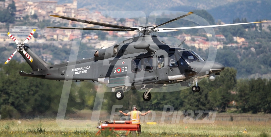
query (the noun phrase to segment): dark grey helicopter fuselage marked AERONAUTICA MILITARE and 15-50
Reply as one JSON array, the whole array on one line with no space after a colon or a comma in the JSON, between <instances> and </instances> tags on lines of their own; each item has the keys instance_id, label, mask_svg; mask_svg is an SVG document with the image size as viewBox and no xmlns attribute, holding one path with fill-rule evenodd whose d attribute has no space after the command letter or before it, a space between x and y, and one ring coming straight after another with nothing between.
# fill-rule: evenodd
<instances>
[{"instance_id":1,"label":"dark grey helicopter fuselage marked AERONAUTICA MILITARE and 15-50","mask_svg":"<svg viewBox=\"0 0 271 137\"><path fill-rule=\"evenodd\" d=\"M48 65L32 74L49 80L92 80L110 87L129 86L127 83L157 87L208 77L223 69L222 64L204 61L190 49L162 43L156 36L139 36L98 50L94 57Z\"/></svg>"}]
</instances>

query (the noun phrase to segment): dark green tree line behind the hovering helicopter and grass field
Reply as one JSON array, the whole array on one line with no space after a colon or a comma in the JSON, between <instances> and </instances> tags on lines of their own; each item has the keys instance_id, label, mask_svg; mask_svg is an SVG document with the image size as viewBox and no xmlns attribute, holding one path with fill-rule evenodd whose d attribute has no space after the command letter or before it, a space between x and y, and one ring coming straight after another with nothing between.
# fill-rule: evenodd
<instances>
[{"instance_id":1,"label":"dark green tree line behind the hovering helicopter and grass field","mask_svg":"<svg viewBox=\"0 0 271 137\"><path fill-rule=\"evenodd\" d=\"M1 118L55 117L58 111L63 82L21 77L18 70L31 72L27 63L11 60L0 65L0 114ZM102 110L109 114L113 105L122 105L121 110L162 111L165 105L174 110L217 110L236 113L271 113L271 81L266 79L236 80L236 70L226 67L216 80L208 78L199 82L201 91L194 93L191 88L176 90L176 87L158 88L151 91L152 99L145 102L143 92L130 90L122 100L116 100L114 92L105 92ZM97 84L90 82L72 83L66 114L78 110L93 110ZM103 91L109 91L104 86ZM178 90L178 89L177 89ZM97 105L97 104L96 104Z\"/></svg>"}]
</instances>

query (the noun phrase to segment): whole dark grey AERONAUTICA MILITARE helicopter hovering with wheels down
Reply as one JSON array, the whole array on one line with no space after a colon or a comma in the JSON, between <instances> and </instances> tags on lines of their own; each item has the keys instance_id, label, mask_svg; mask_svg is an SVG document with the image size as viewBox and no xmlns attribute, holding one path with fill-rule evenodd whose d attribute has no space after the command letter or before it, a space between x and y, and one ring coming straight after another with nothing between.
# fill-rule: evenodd
<instances>
[{"instance_id":1,"label":"whole dark grey AERONAUTICA MILITARE helicopter hovering with wheels down","mask_svg":"<svg viewBox=\"0 0 271 137\"><path fill-rule=\"evenodd\" d=\"M91 58L50 65L35 54L29 46L25 45L35 32L35 29L23 43L19 42L15 37L8 33L9 37L17 44L17 48L5 64L19 51L33 70L29 74L19 71L21 76L58 81L100 82L102 84L107 84L108 87L112 88L112 92L115 92L115 97L118 100L121 100L124 97L124 92L131 88L144 89L143 100L149 101L151 99L151 89L176 83L181 83L181 86L187 87L193 85L192 91L199 92L201 89L198 86L198 80L205 77L209 77L212 81L215 80L215 76L219 75L219 72L224 70L224 66L218 62L205 61L193 50L182 48L181 45L184 41L179 45L170 45L160 41L157 36L151 35L151 33L177 31L180 29L262 23L266 21L196 27L159 28L162 25L191 14L193 14L193 12L189 12L155 27L147 24L139 27L126 27L59 15L50 15L70 21L111 28L48 28L137 31L142 33L142 35L126 39L106 49L97 50Z\"/></svg>"}]
</instances>

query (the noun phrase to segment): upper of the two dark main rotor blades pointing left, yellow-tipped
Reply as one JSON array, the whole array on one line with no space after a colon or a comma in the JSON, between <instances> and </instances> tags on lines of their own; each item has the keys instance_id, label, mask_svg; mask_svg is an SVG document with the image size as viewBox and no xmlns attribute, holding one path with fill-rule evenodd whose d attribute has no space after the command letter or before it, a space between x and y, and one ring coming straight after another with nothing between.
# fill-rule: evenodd
<instances>
[{"instance_id":1,"label":"upper of the two dark main rotor blades pointing left, yellow-tipped","mask_svg":"<svg viewBox=\"0 0 271 137\"><path fill-rule=\"evenodd\" d=\"M113 28L117 28L117 29L132 29L132 30L138 29L137 27L126 27L126 26L120 26L120 25L112 25L112 24L107 24L107 23L100 23L100 22L95 22L95 21L76 19L76 18L65 17L65 16L60 16L60 15L50 15L50 16L58 17L58 18L61 18L61 19L67 19L67 20L70 20L70 21L81 22L81 23L99 25L99 26L104 26L104 27L113 27Z\"/></svg>"}]
</instances>

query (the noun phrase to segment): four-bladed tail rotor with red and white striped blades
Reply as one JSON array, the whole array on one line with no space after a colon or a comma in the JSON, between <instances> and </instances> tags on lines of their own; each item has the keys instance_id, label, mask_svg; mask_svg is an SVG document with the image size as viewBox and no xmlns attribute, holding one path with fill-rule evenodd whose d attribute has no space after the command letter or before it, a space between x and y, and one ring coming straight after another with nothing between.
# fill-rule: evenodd
<instances>
[{"instance_id":1,"label":"four-bladed tail rotor with red and white striped blades","mask_svg":"<svg viewBox=\"0 0 271 137\"><path fill-rule=\"evenodd\" d=\"M33 36L33 34L35 33L36 29L33 29L31 31L31 33L28 35L28 37L25 39L25 41L19 42L11 33L7 33L7 35L17 44L16 47L16 51L9 57L9 59L7 59L7 61L5 62L5 64L9 63L9 61L11 60L11 58L15 55L15 53L19 52L23 52L23 54L30 60L30 62L33 61L33 58L25 51L25 43L27 43L29 41L29 39Z\"/></svg>"}]
</instances>

